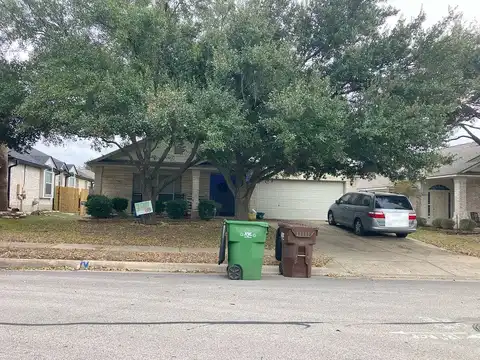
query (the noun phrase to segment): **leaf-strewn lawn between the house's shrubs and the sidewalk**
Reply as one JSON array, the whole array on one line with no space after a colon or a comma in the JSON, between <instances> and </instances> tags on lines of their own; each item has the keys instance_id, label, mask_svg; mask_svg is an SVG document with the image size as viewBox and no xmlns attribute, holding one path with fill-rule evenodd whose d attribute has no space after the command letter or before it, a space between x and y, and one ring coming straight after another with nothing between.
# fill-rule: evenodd
<instances>
[{"instance_id":1,"label":"leaf-strewn lawn between the house's shrubs and the sidewalk","mask_svg":"<svg viewBox=\"0 0 480 360\"><path fill-rule=\"evenodd\" d=\"M221 228L221 220L162 220L144 225L132 219L82 221L77 216L29 216L0 219L0 241L215 248ZM275 229L270 228L265 247L274 246Z\"/></svg>"}]
</instances>

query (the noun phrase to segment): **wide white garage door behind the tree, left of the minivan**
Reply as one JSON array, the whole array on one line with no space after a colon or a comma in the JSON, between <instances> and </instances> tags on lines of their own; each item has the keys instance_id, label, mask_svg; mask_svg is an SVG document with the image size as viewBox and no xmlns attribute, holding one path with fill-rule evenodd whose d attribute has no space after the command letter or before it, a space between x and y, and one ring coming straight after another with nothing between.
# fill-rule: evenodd
<instances>
[{"instance_id":1,"label":"wide white garage door behind the tree, left of the minivan","mask_svg":"<svg viewBox=\"0 0 480 360\"><path fill-rule=\"evenodd\" d=\"M267 219L326 220L342 195L340 181L273 180L256 186L250 204Z\"/></svg>"}]
</instances>

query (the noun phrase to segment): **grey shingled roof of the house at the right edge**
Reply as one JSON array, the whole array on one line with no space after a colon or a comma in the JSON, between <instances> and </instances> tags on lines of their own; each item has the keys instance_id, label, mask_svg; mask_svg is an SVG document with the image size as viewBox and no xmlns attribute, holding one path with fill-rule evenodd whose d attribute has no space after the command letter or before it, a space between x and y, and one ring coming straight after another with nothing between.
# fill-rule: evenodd
<instances>
[{"instance_id":1,"label":"grey shingled roof of the house at the right edge","mask_svg":"<svg viewBox=\"0 0 480 360\"><path fill-rule=\"evenodd\" d=\"M456 175L480 165L480 145L476 142L450 146L441 150L443 155L453 156L451 164L441 166L428 177Z\"/></svg>"}]
</instances>

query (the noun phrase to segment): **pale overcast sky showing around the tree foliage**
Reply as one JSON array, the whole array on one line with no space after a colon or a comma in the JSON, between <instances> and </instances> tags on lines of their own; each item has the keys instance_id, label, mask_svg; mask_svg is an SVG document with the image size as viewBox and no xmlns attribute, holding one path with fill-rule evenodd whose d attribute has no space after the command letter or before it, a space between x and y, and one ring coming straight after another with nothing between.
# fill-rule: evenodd
<instances>
[{"instance_id":1,"label":"pale overcast sky showing around the tree foliage","mask_svg":"<svg viewBox=\"0 0 480 360\"><path fill-rule=\"evenodd\" d=\"M467 20L476 21L478 19L480 21L480 2L478 0L390 0L389 3L398 8L407 19L418 15L423 7L427 15L427 26L434 24L447 15L449 6L458 7ZM458 140L455 144L465 141L468 140ZM86 161L112 151L112 149L108 149L101 153L96 152L91 149L90 143L87 141L67 142L64 146L47 146L43 143L38 143L35 148L66 163L79 166Z\"/></svg>"}]
</instances>

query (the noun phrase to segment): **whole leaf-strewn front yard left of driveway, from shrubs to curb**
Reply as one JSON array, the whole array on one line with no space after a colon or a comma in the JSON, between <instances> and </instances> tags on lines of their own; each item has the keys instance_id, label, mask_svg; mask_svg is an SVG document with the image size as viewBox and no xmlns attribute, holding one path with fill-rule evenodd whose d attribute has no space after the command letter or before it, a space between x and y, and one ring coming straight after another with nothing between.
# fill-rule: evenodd
<instances>
[{"instance_id":1,"label":"whole leaf-strewn front yard left of driveway, from shrubs to curb","mask_svg":"<svg viewBox=\"0 0 480 360\"><path fill-rule=\"evenodd\" d=\"M222 220L162 219L157 225L143 225L133 219L86 221L61 213L19 220L0 219L0 258L212 264L218 260L221 228ZM39 247L10 244L19 242L37 243ZM74 245L52 248L47 244L89 244L95 245L95 249ZM131 246L160 246L163 249L132 249ZM265 247L270 251L264 256L264 264L277 264L271 255L271 249L275 248L275 229L272 227ZM329 258L316 254L313 266L324 266L328 261Z\"/></svg>"}]
</instances>

